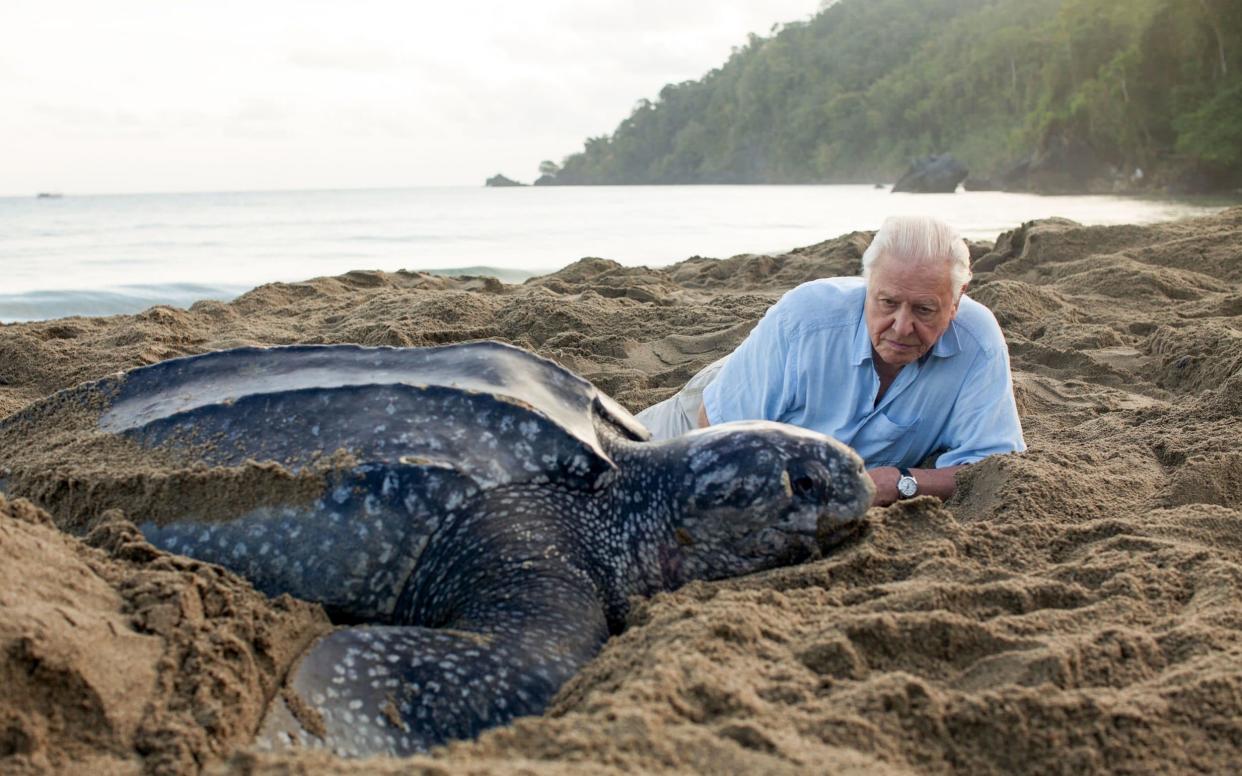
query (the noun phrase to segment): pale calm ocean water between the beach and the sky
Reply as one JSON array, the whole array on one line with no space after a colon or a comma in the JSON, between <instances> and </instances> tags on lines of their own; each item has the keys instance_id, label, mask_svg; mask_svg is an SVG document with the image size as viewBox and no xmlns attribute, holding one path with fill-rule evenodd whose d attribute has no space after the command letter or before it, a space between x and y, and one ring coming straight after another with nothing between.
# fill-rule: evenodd
<instances>
[{"instance_id":1,"label":"pale calm ocean water between the beach and the sky","mask_svg":"<svg viewBox=\"0 0 1242 776\"><path fill-rule=\"evenodd\" d=\"M861 186L414 187L0 197L0 323L231 299L350 269L518 282L584 256L651 267L774 253L895 212L995 240L1023 221L1145 223L1231 202Z\"/></svg>"}]
</instances>

